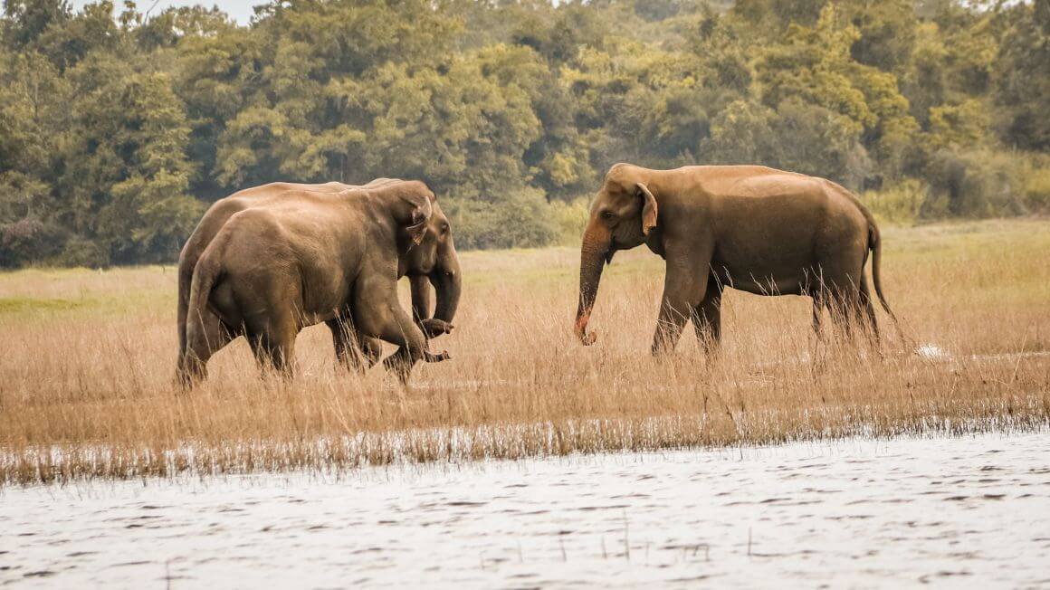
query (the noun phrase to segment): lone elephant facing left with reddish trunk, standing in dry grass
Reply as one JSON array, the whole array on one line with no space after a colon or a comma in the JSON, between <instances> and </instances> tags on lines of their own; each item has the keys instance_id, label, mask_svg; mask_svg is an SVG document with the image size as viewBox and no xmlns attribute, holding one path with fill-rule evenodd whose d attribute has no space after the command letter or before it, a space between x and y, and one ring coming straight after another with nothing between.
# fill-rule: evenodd
<instances>
[{"instance_id":1,"label":"lone elephant facing left with reddish trunk, standing in dry grass","mask_svg":"<svg viewBox=\"0 0 1050 590\"><path fill-rule=\"evenodd\" d=\"M882 293L882 243L872 213L843 187L763 166L609 169L580 249L580 300L574 332L595 341L587 324L605 264L617 250L645 244L667 271L652 354L674 349L688 320L708 353L721 337L722 291L813 297L814 330L822 309L849 332L866 316L878 342L875 308L864 276L900 331Z\"/></svg>"}]
</instances>

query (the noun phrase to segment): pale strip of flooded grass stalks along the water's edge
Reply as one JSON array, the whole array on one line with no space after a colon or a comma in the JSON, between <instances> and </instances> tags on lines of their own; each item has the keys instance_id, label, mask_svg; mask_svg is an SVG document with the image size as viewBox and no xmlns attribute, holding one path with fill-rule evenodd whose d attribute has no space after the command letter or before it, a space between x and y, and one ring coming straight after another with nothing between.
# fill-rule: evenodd
<instances>
[{"instance_id":1,"label":"pale strip of flooded grass stalks along the water's edge","mask_svg":"<svg viewBox=\"0 0 1050 590\"><path fill-rule=\"evenodd\" d=\"M1032 397L1031 401L1035 402L1038 398ZM1005 419L1004 419L1005 418ZM574 428L576 435L582 435L590 431L598 431L603 429L620 429L623 433L632 431L660 431L660 425L667 423L679 423L684 420L688 420L689 417L659 417L650 418L640 421L625 421L625 420L587 420L581 423L570 424L569 426ZM700 422L702 424L702 421ZM502 455L486 455L486 456L475 456L476 444L478 440L488 440L494 441L504 437L508 434L514 431L541 431L546 436L546 444L539 447L540 450L536 452L524 451L521 454L502 454ZM78 472L72 477L66 477L63 473L51 477L38 477L35 480L8 480L0 481L0 496L3 494L5 489L54 489L54 488L67 488L77 487L81 485L92 485L92 484L118 484L121 482L138 481L142 485L147 485L147 483L172 483L190 480L205 481L209 479L224 479L224 478L253 478L253 477L273 477L273 478L335 478L336 480L342 478L352 478L357 473L361 473L371 469L385 469L385 470L408 470L408 469L442 469L442 468L470 468L471 466L478 466L483 468L485 465L500 464L500 463L521 463L521 462L543 462L550 460L561 460L561 459L584 459L588 457L615 457L615 456L644 456L652 454L662 452L697 452L697 454L708 454L708 452L732 452L744 450L760 450L760 449L776 449L780 447L790 447L795 445L823 445L823 444L839 444L846 443L849 441L857 442L888 442L888 441L919 441L919 440L932 440L932 439L956 439L965 437L981 437L981 436L992 436L992 435L1003 435L1003 436L1018 436L1018 435L1029 435L1029 434L1047 434L1050 433L1050 416L1044 416L1042 420L1028 418L1017 418L1017 417L1000 417L996 419L986 419L986 420L969 420L965 422L952 422L950 419L937 420L936 417L924 417L921 418L916 424L897 424L889 427L873 427L870 424L856 424L850 430L842 431L825 431L825 433L812 433L812 434L796 434L795 436L780 436L780 437L769 437L764 439L749 439L739 438L736 440L724 440L720 442L692 442L684 444L669 444L667 442L652 441L651 444L635 444L633 446L623 445L623 446L604 446L598 448L590 449L578 449L570 448L566 452L558 452L556 441L559 435L558 430L552 424L529 424L529 425L505 425L505 426L489 426L483 428L476 428L472 431L468 431L465 428L449 428L449 429L429 429L426 431L400 431L400 433L359 433L354 437L341 437L338 439L331 438L319 438L313 441L313 447L316 448L316 455L308 457L321 458L326 456L337 455L346 459L335 460L324 462L323 460L312 462L312 461L301 461L301 456L298 455L299 450L296 449L294 452L295 457L299 459L296 463L289 461L284 465L254 465L254 466L230 466L231 464L226 464L224 467L218 469L206 470L203 469L203 463L198 462L195 458L198 456L209 457L214 449L210 447L200 447L193 444L185 444L178 449L167 450L164 459L164 467L156 467L156 462L152 463L146 462L139 470L132 470L125 475L116 475L108 470L105 465L107 462L104 459L107 455L107 449L105 447L99 447L94 449L87 449L88 455L93 455L96 457L96 463L92 465L92 469ZM698 431L698 436L701 435L702 430ZM626 436L630 436L629 434ZM419 459L418 456L413 454L413 445L419 440L434 441L437 440L439 447L444 447L448 449L447 455L427 457L424 459ZM631 439L636 440L636 439ZM280 442L266 442L266 441L254 441L245 442L230 447L225 447L219 449L219 451L225 456L227 460L232 460L235 465L236 458L250 458L257 457L261 455L270 455L271 457L279 457L279 450L281 448L287 448L286 443ZM383 447L385 452L381 456L382 460L373 461L370 457L374 458L375 455L369 455L366 450L369 448ZM334 449L340 449L338 452L334 452ZM30 454L39 452L40 449L29 449ZM78 458L82 458L84 448L78 448ZM277 452L275 452L277 451ZM360 451L355 454L355 451ZM62 456L64 451L60 446L52 446L49 455L52 458L51 463L54 464L64 464L62 461ZM150 457L150 452L144 452L143 456L146 458ZM101 458L100 458L101 457ZM12 455L5 455L2 449L0 449L0 472L4 471L5 462L12 461Z\"/></svg>"}]
</instances>

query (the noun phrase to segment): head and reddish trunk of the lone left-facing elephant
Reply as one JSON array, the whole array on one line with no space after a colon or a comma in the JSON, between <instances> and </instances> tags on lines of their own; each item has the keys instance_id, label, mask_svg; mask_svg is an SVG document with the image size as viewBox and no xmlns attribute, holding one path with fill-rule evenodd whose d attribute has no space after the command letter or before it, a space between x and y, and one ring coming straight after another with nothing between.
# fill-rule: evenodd
<instances>
[{"instance_id":1,"label":"head and reddish trunk of the lone left-facing elephant","mask_svg":"<svg viewBox=\"0 0 1050 590\"><path fill-rule=\"evenodd\" d=\"M613 166L591 205L580 247L580 307L575 321L575 334L585 345L595 340L594 334L587 333L587 321L604 266L616 250L645 243L656 227L658 207L646 172L628 164Z\"/></svg>"}]
</instances>

